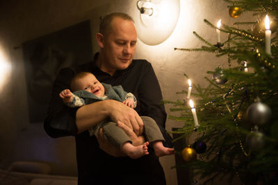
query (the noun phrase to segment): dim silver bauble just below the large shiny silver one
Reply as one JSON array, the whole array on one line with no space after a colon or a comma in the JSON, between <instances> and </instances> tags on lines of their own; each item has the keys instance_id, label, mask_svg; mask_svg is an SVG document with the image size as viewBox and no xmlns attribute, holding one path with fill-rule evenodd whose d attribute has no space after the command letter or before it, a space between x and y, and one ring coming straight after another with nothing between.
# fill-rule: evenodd
<instances>
[{"instance_id":1,"label":"dim silver bauble just below the large shiny silver one","mask_svg":"<svg viewBox=\"0 0 278 185\"><path fill-rule=\"evenodd\" d=\"M251 150L260 150L265 144L263 133L250 132L250 134L246 136L245 143Z\"/></svg>"}]
</instances>

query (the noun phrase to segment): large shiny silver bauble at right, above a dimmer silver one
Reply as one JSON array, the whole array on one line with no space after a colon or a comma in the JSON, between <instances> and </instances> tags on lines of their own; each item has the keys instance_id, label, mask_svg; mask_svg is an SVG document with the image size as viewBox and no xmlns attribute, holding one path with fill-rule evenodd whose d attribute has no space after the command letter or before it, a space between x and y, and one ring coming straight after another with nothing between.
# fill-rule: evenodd
<instances>
[{"instance_id":1,"label":"large shiny silver bauble at right, above a dimmer silver one","mask_svg":"<svg viewBox=\"0 0 278 185\"><path fill-rule=\"evenodd\" d=\"M263 125L268 123L271 117L271 109L264 103L252 103L246 111L247 121L254 125Z\"/></svg>"}]
</instances>

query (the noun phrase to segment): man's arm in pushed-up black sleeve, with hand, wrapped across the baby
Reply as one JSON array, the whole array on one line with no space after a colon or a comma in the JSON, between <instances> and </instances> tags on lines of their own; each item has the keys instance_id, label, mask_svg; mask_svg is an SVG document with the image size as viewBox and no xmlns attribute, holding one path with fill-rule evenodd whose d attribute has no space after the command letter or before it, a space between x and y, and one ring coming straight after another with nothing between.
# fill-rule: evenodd
<instances>
[{"instance_id":1,"label":"man's arm in pushed-up black sleeve, with hand, wrapped across the baby","mask_svg":"<svg viewBox=\"0 0 278 185\"><path fill-rule=\"evenodd\" d=\"M88 130L90 127L110 117L117 123L121 121L139 133L142 119L137 112L115 100L103 100L83 107L70 108L63 104L60 91L70 89L74 71L62 69L54 82L44 130L52 137L69 136Z\"/></svg>"}]
</instances>

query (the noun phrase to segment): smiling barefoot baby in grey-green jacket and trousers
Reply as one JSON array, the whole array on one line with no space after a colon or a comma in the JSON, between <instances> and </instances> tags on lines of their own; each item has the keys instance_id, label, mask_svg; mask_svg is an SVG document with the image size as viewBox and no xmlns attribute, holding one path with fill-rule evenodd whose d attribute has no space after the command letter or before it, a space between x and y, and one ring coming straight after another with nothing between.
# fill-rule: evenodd
<instances>
[{"instance_id":1,"label":"smiling barefoot baby in grey-green jacket and trousers","mask_svg":"<svg viewBox=\"0 0 278 185\"><path fill-rule=\"evenodd\" d=\"M74 93L72 93L70 89L65 89L60 92L60 98L62 98L65 105L69 107L81 107L83 105L95 103L98 100L108 99L118 100L131 108L136 107L137 100L133 94L126 93L120 85L112 87L108 84L101 84L92 73L78 73L72 79L70 86ZM111 121L99 123L90 129L89 132L91 136L93 134L97 135L99 129L103 128L106 139L108 139L110 143L115 144L125 155L132 159L138 159L139 157L148 155L147 146L149 142L152 148L154 148L157 157L172 155L174 149L163 146L162 141L164 141L164 138L156 122L147 116L142 116L141 118L144 122L145 136L148 141L140 146L133 146L131 139L129 139L124 130L117 127L117 124Z\"/></svg>"}]
</instances>

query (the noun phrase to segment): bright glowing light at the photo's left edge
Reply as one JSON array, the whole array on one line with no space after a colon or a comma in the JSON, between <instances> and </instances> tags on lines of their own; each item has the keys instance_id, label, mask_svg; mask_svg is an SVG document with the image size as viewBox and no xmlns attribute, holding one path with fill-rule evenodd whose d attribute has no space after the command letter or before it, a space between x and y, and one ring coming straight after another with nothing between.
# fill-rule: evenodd
<instances>
[{"instance_id":1,"label":"bright glowing light at the photo's left edge","mask_svg":"<svg viewBox=\"0 0 278 185\"><path fill-rule=\"evenodd\" d=\"M5 87L6 81L10 76L11 65L8 62L6 55L0 48L0 91Z\"/></svg>"}]
</instances>

